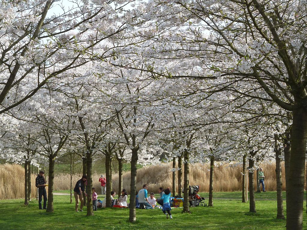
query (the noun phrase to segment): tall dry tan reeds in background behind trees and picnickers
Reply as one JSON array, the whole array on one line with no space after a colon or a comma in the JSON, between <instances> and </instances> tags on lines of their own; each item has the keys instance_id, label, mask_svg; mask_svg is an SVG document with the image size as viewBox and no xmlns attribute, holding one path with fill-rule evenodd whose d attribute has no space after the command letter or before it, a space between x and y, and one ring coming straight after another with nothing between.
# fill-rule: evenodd
<instances>
[{"instance_id":1,"label":"tall dry tan reeds in background behind trees and picnickers","mask_svg":"<svg viewBox=\"0 0 307 230\"><path fill-rule=\"evenodd\" d=\"M268 191L276 190L276 174L275 164L266 163L262 164L266 180L265 186ZM143 184L149 185L149 192L157 193L159 187L171 187L172 186L172 163L160 164L155 166L147 166L138 169L137 172L137 190L142 189ZM210 166L209 164L196 163L190 165L190 185L199 185L200 192L208 192L209 190L209 178L210 178ZM214 182L213 188L215 192L231 192L240 191L242 188L242 168L230 167L229 164L225 164L214 169ZM178 174L176 173L176 182ZM256 173L255 173L255 190L256 190ZM73 175L72 188L74 188L77 180L82 175ZM32 175L32 197L35 197L35 178L36 175ZM100 174L93 174L92 181L93 186L96 188L96 192L101 194L101 187L99 182ZM283 178L283 190L286 189L284 164L282 164L282 178ZM0 165L0 199L13 199L24 197L24 169L20 165ZM48 180L48 178L47 178ZM112 176L113 190L118 192L118 174L114 173ZM130 193L130 172L124 172L123 174L123 188ZM305 185L306 188L306 185ZM70 175L58 174L54 178L54 190L70 190ZM178 187L176 187L178 191Z\"/></svg>"}]
</instances>

